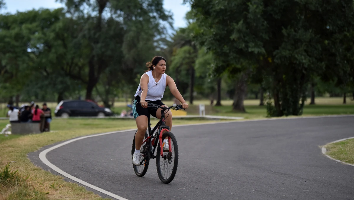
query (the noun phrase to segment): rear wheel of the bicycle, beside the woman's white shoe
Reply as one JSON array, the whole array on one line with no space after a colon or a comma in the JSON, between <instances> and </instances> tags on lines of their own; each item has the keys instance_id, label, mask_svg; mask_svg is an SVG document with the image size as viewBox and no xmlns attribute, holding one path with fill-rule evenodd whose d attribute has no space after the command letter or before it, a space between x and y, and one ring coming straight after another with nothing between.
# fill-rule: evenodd
<instances>
[{"instance_id":1,"label":"rear wheel of the bicycle, beside the woman's white shoe","mask_svg":"<svg viewBox=\"0 0 354 200\"><path fill-rule=\"evenodd\" d=\"M137 130L137 131L138 131L138 130ZM137 132L137 131L136 131L136 132ZM133 159L133 153L135 152L135 135L136 135L136 132L135 132L134 138L133 138L133 146L132 146L132 152L131 152L131 154L132 154L132 159ZM147 133L147 132L145 132L144 140L145 140L146 138L148 138L148 133ZM137 176L142 177L142 176L144 176L144 175L146 174L146 172L148 171L149 160L150 160L150 158L149 158L149 152L148 152L148 151L149 151L149 146L148 146L148 144L147 144L147 143L143 143L143 144L141 145L141 147L140 147L140 153L142 154L142 157L141 157L141 159L140 159L140 162L146 158L146 159L145 159L145 162L143 162L143 164L138 165L138 166L136 166L135 164L132 163L134 172L135 172L135 174L136 174Z\"/></svg>"}]
</instances>

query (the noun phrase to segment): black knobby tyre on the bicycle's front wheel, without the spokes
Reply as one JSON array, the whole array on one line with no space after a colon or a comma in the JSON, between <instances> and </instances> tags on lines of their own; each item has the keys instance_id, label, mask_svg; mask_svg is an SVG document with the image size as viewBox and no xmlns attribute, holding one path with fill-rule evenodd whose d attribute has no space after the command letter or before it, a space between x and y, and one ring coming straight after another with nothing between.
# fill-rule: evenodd
<instances>
[{"instance_id":1,"label":"black knobby tyre on the bicycle's front wheel, without the spokes","mask_svg":"<svg viewBox=\"0 0 354 200\"><path fill-rule=\"evenodd\" d=\"M173 150L175 152L175 156L172 158L174 159L174 163L173 163L173 169L172 169L172 173L170 175L169 178L165 179L164 177L162 177L162 172L161 172L161 168L160 168L160 159L161 155L160 155L160 144L158 144L157 147L157 152L156 152L156 167L157 167L157 174L159 175L160 181L162 183L170 183L173 178L175 178L176 172L177 172L177 166L178 166L178 145L177 145L177 140L175 135L173 135L173 133L171 132L165 132L162 134L162 138L166 138L166 137L170 137L172 144L173 144Z\"/></svg>"}]
</instances>

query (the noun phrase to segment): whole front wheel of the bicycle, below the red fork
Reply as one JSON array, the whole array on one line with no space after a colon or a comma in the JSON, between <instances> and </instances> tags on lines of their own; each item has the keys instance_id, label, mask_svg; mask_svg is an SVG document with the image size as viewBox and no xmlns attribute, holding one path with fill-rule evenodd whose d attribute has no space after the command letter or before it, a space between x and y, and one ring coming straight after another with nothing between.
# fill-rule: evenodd
<instances>
[{"instance_id":1,"label":"whole front wheel of the bicycle, below the red fork","mask_svg":"<svg viewBox=\"0 0 354 200\"><path fill-rule=\"evenodd\" d=\"M166 137L169 137L171 140L169 144L169 146L171 146L171 151L164 150L164 158L162 158L160 155L161 147L160 144L158 144L156 152L156 166L160 181L167 184L170 183L176 175L178 166L178 145L175 135L171 132L165 132L162 134L162 138ZM162 146L164 146L164 143L162 143Z\"/></svg>"}]
</instances>

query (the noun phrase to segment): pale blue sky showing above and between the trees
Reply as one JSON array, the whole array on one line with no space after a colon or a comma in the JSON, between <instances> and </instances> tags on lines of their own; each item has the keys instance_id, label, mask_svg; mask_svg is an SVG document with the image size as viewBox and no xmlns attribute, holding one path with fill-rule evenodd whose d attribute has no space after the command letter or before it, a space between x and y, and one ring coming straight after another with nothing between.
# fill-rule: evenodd
<instances>
[{"instance_id":1,"label":"pale blue sky showing above and between the trees","mask_svg":"<svg viewBox=\"0 0 354 200\"><path fill-rule=\"evenodd\" d=\"M63 4L56 2L56 0L5 0L6 9L1 10L1 13L16 13L17 11L26 11L43 8L58 8L63 7ZM164 8L167 11L173 13L174 28L185 27L186 22L184 20L185 13L190 10L189 5L183 5L183 0L164 0Z\"/></svg>"}]
</instances>

